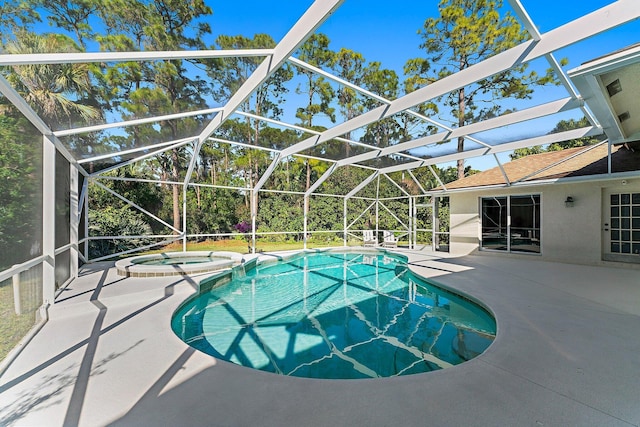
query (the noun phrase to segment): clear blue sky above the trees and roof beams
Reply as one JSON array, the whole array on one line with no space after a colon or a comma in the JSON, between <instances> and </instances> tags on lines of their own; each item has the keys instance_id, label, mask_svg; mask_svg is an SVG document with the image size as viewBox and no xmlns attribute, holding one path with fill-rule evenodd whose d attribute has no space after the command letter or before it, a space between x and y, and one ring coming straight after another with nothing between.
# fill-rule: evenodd
<instances>
[{"instance_id":1,"label":"clear blue sky above the trees and roof beams","mask_svg":"<svg viewBox=\"0 0 640 427\"><path fill-rule=\"evenodd\" d=\"M606 0L551 1L521 0L529 16L541 33L550 31L581 15L593 12L607 4ZM217 34L253 35L265 32L275 40L284 36L297 18L311 4L310 1L264 2L256 0L243 1L242 10L238 10L235 2L210 1L214 14L210 21ZM510 10L507 4L505 10ZM326 34L331 40L330 48L334 51L347 47L363 54L367 61L379 61L383 68L395 70L403 75L403 66L410 58L423 55L419 45L421 38L418 30L427 17L437 16L436 1L415 0L346 0L342 6L330 16L317 30ZM638 22L627 24L603 35L595 36L576 45L569 46L555 54L557 59L566 58L568 64L565 71L571 70L593 58L613 52L617 49L640 41L640 25ZM538 60L531 68L543 73L548 67L544 60ZM402 78L402 77L401 77ZM567 96L562 87L545 87L538 89L534 101L514 104L515 108L526 108ZM507 102L505 106L510 107ZM540 134L540 129L551 130L562 119L580 118L580 111L554 115L548 119L512 126L509 135L504 130L487 132L483 137L489 142L505 142L514 137L526 138ZM545 132L546 133L546 132ZM508 155L500 156L508 160ZM469 161L472 167L485 169L487 159ZM495 166L489 159L489 167Z\"/></svg>"}]
</instances>

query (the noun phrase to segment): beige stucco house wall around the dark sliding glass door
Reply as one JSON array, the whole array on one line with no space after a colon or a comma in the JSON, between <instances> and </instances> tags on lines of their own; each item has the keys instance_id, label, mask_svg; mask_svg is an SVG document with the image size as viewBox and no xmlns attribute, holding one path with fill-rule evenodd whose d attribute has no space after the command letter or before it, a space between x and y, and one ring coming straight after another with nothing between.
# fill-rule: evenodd
<instances>
[{"instance_id":1,"label":"beige stucco house wall around the dark sliding glass door","mask_svg":"<svg viewBox=\"0 0 640 427\"><path fill-rule=\"evenodd\" d=\"M607 191L640 192L640 177L555 183L527 187L494 188L471 192L451 193L450 251L469 254L479 250L480 198L489 196L540 194L541 196L541 254L533 256L548 261L580 264L601 264L603 246L603 212ZM565 207L567 196L575 200L573 207ZM492 253L481 251L482 253Z\"/></svg>"}]
</instances>

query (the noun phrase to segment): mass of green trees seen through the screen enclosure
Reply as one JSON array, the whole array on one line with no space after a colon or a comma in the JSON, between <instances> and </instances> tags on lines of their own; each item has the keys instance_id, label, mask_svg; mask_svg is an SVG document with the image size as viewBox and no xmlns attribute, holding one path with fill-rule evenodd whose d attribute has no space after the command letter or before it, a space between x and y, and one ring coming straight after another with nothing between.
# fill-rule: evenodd
<instances>
[{"instance_id":1,"label":"mass of green trees seen through the screen enclosure","mask_svg":"<svg viewBox=\"0 0 640 427\"><path fill-rule=\"evenodd\" d=\"M261 33L221 34L212 41L208 18L214 11L203 0L8 0L0 5L0 11L0 47L8 53L269 49L276 46L271 36ZM334 49L330 38L323 33L308 37L294 56L379 97L394 100L522 42L526 33L513 16L501 11L502 3L498 0L442 0L440 17L427 19L418 32L425 56L408 61L405 75L386 69L380 62L347 47ZM42 32L45 22L57 28L56 33ZM206 140L198 153L194 153L193 142L181 143L182 138L198 135L211 120L212 114L202 111L224 105L262 61L262 57L246 56L38 64L4 68L0 73L54 131L121 120L139 122L117 130L60 138L78 159L96 159L84 165L90 173L108 171L88 179L92 212L90 235L177 234L187 215L185 231L205 238L233 233L237 224L251 221L251 189L273 162L274 151L382 104L379 98L365 96L350 85L288 62L247 97L237 113L225 117L213 138ZM538 76L527 71L526 66L516 67L418 105L415 111L440 114L455 125L463 126L501 114L504 98L529 97L531 84L552 81L550 74ZM293 118L296 126L280 126L277 121L291 98L299 101ZM0 144L4 147L0 158L2 185L13 183L20 170L25 181L23 188L37 188L42 183L33 173L37 167L36 156L29 144L20 141L30 138L30 133L23 131L25 120L1 97L0 108L6 112L0 121ZM166 118L184 112L192 114L180 119ZM154 116L164 118L147 120ZM347 132L341 139L313 146L300 155L279 159L278 167L260 193L258 230L290 231L291 238L299 239L305 214L308 214L310 229L342 229L343 207L339 199L315 195L304 198L300 193L307 192L331 167L333 160L392 147L433 133L436 128L415 114L403 112ZM458 149L463 148L464 138L460 138ZM127 151L135 154L121 154ZM112 157L108 158L110 153ZM410 152L402 154L411 155ZM318 191L329 195L347 194L371 175L371 167L404 161L402 154L379 156L359 165L362 167L337 168ZM101 156L94 157L98 155ZM141 160L116 167L119 162L139 155L143 157ZM11 164L17 165L17 169ZM190 170L193 174L187 177ZM421 189L439 186L440 181L446 183L472 172L462 163L457 169L419 168L414 171L418 183L408 175L394 173L390 176L397 185L381 176L358 196L392 199L407 193L416 195ZM192 185L183 191L182 183L187 178ZM292 193L283 194L283 191ZM7 200L3 205L5 214L0 216L0 239L15 241L20 235L24 245L30 245L27 240L34 233L25 230L35 225L24 220L20 212L37 210L41 201L16 191L2 191L2 194ZM406 206L402 203L389 201L387 205L389 211L405 214ZM349 206L357 211L366 209L367 203L353 200ZM385 226L393 227L395 214L382 215L387 215ZM373 219L370 215L358 218L357 214L350 213L351 221L356 221L354 226L370 227ZM102 241L91 249L98 256L150 241Z\"/></svg>"}]
</instances>

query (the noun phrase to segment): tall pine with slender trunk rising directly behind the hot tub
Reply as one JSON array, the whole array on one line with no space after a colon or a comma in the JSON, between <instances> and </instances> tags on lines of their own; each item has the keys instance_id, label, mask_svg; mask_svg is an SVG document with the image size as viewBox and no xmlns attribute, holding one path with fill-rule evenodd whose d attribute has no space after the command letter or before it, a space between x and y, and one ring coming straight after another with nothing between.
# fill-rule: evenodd
<instances>
[{"instance_id":1,"label":"tall pine with slender trunk rising directly behind the hot tub","mask_svg":"<svg viewBox=\"0 0 640 427\"><path fill-rule=\"evenodd\" d=\"M185 50L204 48L202 37L211 32L201 18L212 13L203 0L105 0L102 19L110 24L110 32L99 37L105 50ZM109 7L110 6L110 7ZM120 106L128 119L149 115L171 114L206 107L209 88L188 62L161 60L142 64L125 63L115 69L107 68L104 81L118 88L112 90L113 106ZM159 128L138 126L130 132L133 145L145 145L151 140L177 140L193 135L203 117L187 120L165 120ZM144 137L144 138L143 138ZM146 141L145 141L146 139ZM160 174L173 182L183 178L186 169L185 149L173 148L158 158ZM172 184L173 226L182 228L180 220L180 186Z\"/></svg>"}]
</instances>

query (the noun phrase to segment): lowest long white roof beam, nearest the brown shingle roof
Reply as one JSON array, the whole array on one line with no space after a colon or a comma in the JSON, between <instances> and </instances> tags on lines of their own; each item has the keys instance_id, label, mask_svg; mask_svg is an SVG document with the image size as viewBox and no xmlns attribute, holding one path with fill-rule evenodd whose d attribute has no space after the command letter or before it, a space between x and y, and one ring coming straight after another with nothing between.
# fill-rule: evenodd
<instances>
[{"instance_id":1,"label":"lowest long white roof beam, nearest the brown shingle roof","mask_svg":"<svg viewBox=\"0 0 640 427\"><path fill-rule=\"evenodd\" d=\"M535 138L522 139L514 142L507 142L504 144L495 145L489 149L478 148L476 150L463 151L460 153L453 153L446 156L433 157L425 159L419 162L405 163L398 166L390 166L388 168L380 169L381 173L398 172L408 169L416 169L423 166L436 165L438 163L455 162L457 160L470 159L473 157L480 157L487 154L504 153L505 151L513 151L518 148L531 147L534 145L545 145L554 142L568 141L570 139L583 138L585 136L600 135L602 129L595 126L587 126L584 128L573 129L566 132L551 133L547 135L538 136Z\"/></svg>"}]
</instances>

